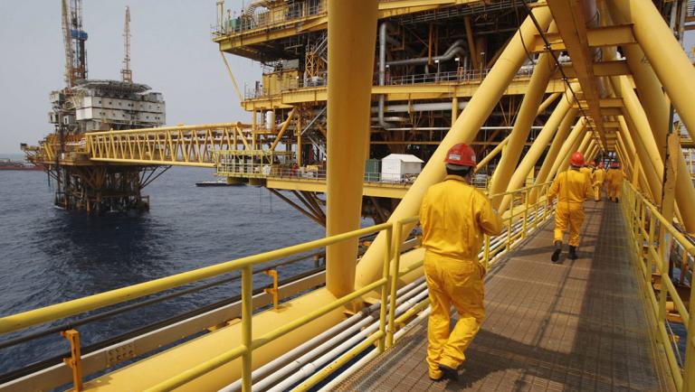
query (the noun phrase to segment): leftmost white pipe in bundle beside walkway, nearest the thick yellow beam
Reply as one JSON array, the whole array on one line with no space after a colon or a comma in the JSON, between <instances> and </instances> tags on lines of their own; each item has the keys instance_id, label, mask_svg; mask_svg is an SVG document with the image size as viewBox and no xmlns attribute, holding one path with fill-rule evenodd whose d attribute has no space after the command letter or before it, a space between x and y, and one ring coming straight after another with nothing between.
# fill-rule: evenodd
<instances>
[{"instance_id":1,"label":"leftmost white pipe in bundle beside walkway, nearest the thick yellow beam","mask_svg":"<svg viewBox=\"0 0 695 392\"><path fill-rule=\"evenodd\" d=\"M408 285L405 285L398 289L396 292L396 295L402 295L404 298L412 295L415 290L417 290L418 286L423 285L424 282L424 276L420 277L418 279L415 279L413 282L409 283ZM398 301L396 301L398 303ZM253 381L258 381L262 378L268 377L271 372L275 371L276 369L280 368L282 365L285 365L287 362L289 362L291 359L294 359L302 354L305 354L307 351L317 347L319 344L324 343L328 344L329 341L333 341L335 339L334 335L338 333L339 331L343 331L346 328L348 328L350 325L359 322L361 319L364 319L367 315L370 313L376 312L376 310L379 308L380 304L375 303L359 313L353 314L350 316L347 320L343 322L339 322L337 325L331 327L327 331L324 331L320 333L319 335L315 336L314 338L310 339L309 341L304 342L300 346L286 352L285 354L281 355L280 357L271 360L271 362L266 363L262 367L255 369L252 372L252 382ZM335 344L335 343L334 343ZM330 346L329 346L330 347ZM227 387L224 387L220 389L220 392L236 392L242 389L242 381L241 379L238 379L234 381L232 384L228 385Z\"/></svg>"}]
</instances>

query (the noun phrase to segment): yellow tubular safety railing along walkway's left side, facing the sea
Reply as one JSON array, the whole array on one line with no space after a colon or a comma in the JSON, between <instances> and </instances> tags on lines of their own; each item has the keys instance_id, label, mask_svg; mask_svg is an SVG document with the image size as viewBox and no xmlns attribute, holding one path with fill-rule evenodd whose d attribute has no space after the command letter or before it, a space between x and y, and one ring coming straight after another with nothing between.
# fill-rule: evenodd
<instances>
[{"instance_id":1,"label":"yellow tubular safety railing along walkway's left side, facing the sea","mask_svg":"<svg viewBox=\"0 0 695 392\"><path fill-rule=\"evenodd\" d=\"M547 183L538 184L519 191L511 191L495 195L495 197L499 197L511 194L515 196L515 202L512 205L512 209L505 216L504 221L506 230L500 236L492 238L485 236L484 245L479 253L479 262L483 266L486 268L490 266L490 264L493 263L497 257L515 247L519 243L520 239L525 238L528 235L529 229L537 228L538 224L543 221L543 219L547 219L550 209L545 204L545 198L538 198L536 201L531 201L530 199L532 191L546 191L547 185ZM370 334L366 340L360 342L351 350L348 350L347 353L341 355L338 359L335 359L327 367L317 371L314 375L304 380L300 386L296 388L297 390L307 390L316 385L316 383L321 381L323 378L328 377L331 372L339 369L350 359L354 359L361 352L373 347L375 343L376 350L378 350L378 352L391 347L394 344L395 332L398 331L399 326L402 327L407 320L411 319L416 313L421 312L427 307L428 303L425 299L424 301L415 304L412 308L405 311L405 313L400 315L396 315L395 313L395 293L399 280L398 278L414 272L423 265L423 260L412 263L403 270L401 269L400 265L400 255L402 250L405 248L403 247L401 238L408 237L404 236L405 227L413 228L417 220L417 217L413 217L409 219L402 219L394 223L386 222L366 229L358 229L337 236L321 238L259 255L242 257L215 266L207 266L138 285L119 288L102 294L95 294L65 303L50 305L29 312L6 316L0 318L0 334L21 331L34 325L54 322L77 314L94 311L118 303L126 303L151 294L161 293L169 289L199 282L214 276L224 275L233 271L241 271L241 344L237 347L230 348L230 350L227 350L223 354L220 354L213 359L209 359L191 369L187 369L185 372L176 375L176 377L169 378L157 386L149 388L148 390L171 390L173 388L183 386L195 378L199 378L205 375L205 373L223 366L233 359L242 358L242 386L244 391L250 391L252 381L251 364L253 350L258 349L269 342L280 338L286 333L294 331L300 326L316 320L320 316L338 309L347 303L352 303L366 294L374 291L380 291L381 302L379 308L378 330ZM386 234L386 251L383 261L382 276L380 279L351 294L338 298L337 300L328 303L314 312L294 320L293 322L282 325L274 331L267 332L262 336L257 336L256 338L252 337L252 295L254 292L252 287L253 266L259 266L263 263L283 257L298 255L319 247L326 247L350 238L360 238L362 236L379 232L385 232ZM395 238L397 238L397 240ZM276 284L273 285L273 288L275 285ZM277 300L273 300L274 306L277 305L276 301ZM81 385L82 378L80 369L81 352L79 335L77 335L74 331L68 330L66 331L65 336L71 341L72 355L68 360L68 363L71 365L73 370L74 384L75 386L79 386Z\"/></svg>"}]
</instances>

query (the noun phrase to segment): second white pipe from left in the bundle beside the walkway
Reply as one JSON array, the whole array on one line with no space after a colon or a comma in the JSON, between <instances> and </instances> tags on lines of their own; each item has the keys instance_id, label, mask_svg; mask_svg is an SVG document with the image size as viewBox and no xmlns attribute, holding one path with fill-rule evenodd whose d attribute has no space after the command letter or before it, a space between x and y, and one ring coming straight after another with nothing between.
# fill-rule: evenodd
<instances>
[{"instance_id":1,"label":"second white pipe from left in the bundle beside the walkway","mask_svg":"<svg viewBox=\"0 0 695 392\"><path fill-rule=\"evenodd\" d=\"M408 300L401 306L398 306L395 310L396 314L405 313L406 310L413 307L416 303L420 303L426 296L427 291L425 290L423 293L418 294L416 297L414 297L414 299ZM271 387L270 389L268 389L268 391L279 392L287 390L289 387L300 382L301 379L307 378L310 375L314 374L317 370L321 369L324 365L326 365L331 359L338 358L340 354L356 346L358 342L365 340L369 335L374 333L379 328L378 318L375 317L375 319L376 322L372 323L369 327L360 331L359 333L357 333L357 335L353 336L348 341L343 342L335 349L328 351L319 359L316 359L313 362L310 362L307 365L303 366L299 371L293 373L289 378L284 378L280 384L276 385L275 387Z\"/></svg>"}]
</instances>

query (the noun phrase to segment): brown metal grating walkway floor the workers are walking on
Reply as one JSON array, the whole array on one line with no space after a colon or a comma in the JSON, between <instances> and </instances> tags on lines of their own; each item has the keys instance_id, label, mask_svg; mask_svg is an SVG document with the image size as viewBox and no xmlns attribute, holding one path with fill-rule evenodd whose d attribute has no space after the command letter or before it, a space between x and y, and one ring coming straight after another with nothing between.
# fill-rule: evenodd
<instances>
[{"instance_id":1,"label":"brown metal grating walkway floor the workers are walking on","mask_svg":"<svg viewBox=\"0 0 695 392\"><path fill-rule=\"evenodd\" d=\"M551 264L553 228L547 222L487 275L487 317L458 382L428 378L425 320L337 390L673 390L618 205L586 203L578 260Z\"/></svg>"}]
</instances>

